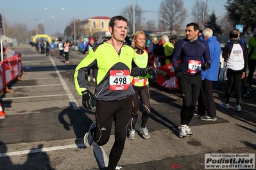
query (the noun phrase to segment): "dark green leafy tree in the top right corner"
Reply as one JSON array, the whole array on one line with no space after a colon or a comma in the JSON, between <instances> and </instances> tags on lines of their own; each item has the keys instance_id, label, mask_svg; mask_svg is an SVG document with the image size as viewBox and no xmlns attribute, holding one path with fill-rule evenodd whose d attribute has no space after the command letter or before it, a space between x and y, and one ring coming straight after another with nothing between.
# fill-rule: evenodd
<instances>
[{"instance_id":1,"label":"dark green leafy tree in the top right corner","mask_svg":"<svg viewBox=\"0 0 256 170\"><path fill-rule=\"evenodd\" d=\"M256 0L228 0L225 8L234 27L244 26L243 33L249 34L256 27Z\"/></svg>"}]
</instances>

